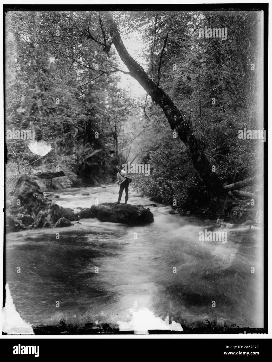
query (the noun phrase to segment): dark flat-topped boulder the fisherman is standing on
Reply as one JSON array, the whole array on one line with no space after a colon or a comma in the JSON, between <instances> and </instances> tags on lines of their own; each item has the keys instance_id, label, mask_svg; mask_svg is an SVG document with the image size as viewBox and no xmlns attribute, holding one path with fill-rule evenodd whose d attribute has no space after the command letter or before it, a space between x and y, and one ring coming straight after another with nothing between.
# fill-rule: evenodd
<instances>
[{"instance_id":1,"label":"dark flat-topped boulder the fisherman is standing on","mask_svg":"<svg viewBox=\"0 0 272 362\"><path fill-rule=\"evenodd\" d=\"M122 224L150 224L154 222L152 212L142 205L116 204L112 202L92 205L90 217L97 218L102 222L108 221Z\"/></svg>"}]
</instances>

